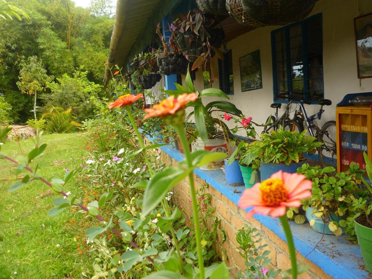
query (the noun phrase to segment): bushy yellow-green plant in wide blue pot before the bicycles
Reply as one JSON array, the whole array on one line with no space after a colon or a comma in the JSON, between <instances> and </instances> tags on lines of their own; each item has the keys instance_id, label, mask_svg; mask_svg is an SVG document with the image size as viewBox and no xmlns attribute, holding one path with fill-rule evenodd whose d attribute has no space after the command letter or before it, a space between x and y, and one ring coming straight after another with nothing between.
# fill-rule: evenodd
<instances>
[{"instance_id":1,"label":"bushy yellow-green plant in wide blue pot before the bicycles","mask_svg":"<svg viewBox=\"0 0 372 279\"><path fill-rule=\"evenodd\" d=\"M261 181L279 170L295 173L298 167L306 163L303 154L315 153L316 148L323 144L315 141L315 137L305 136L306 132L307 130L301 133L284 131L283 127L279 127L278 131L261 134L261 141L252 142L251 147L256 153L254 155L261 161Z\"/></svg>"}]
</instances>

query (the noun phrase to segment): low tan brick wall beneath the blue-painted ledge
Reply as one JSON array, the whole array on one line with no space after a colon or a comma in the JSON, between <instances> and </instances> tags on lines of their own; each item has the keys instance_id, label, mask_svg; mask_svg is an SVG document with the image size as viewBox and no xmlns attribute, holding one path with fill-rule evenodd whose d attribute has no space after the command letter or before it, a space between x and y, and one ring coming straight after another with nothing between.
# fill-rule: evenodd
<instances>
[{"instance_id":1,"label":"low tan brick wall beneath the blue-painted ledge","mask_svg":"<svg viewBox=\"0 0 372 279\"><path fill-rule=\"evenodd\" d=\"M171 158L167 153L161 153L161 160L166 164L166 166L177 166L177 161ZM205 181L202 180L199 176L194 174L195 188L200 188ZM190 199L190 186L188 179L183 180L178 183L174 188L174 198L176 200L177 206L182 208L186 214L192 215L191 204L189 203ZM289 260L288 248L285 241L279 238L273 231L266 228L259 221L254 218L250 218L247 221L244 217L246 212L243 209L238 208L238 206L226 198L225 195L221 194L218 190L209 187L209 193L212 195L211 206L216 208L217 217L221 219L221 229L226 232L227 240L222 244L222 240L219 239L217 243L217 251L221 254L221 249L223 248L227 254L227 265L230 267L237 267L232 269L231 276L234 276L238 269L244 270L245 264L243 258L240 256L235 247L238 246L236 241L236 233L240 228L243 227L243 223L247 223L251 227L256 228L262 238L260 245L267 244L267 247L264 250L270 250L271 253L269 257L272 258L270 266L273 269L282 269L287 270L291 268L291 262ZM310 266L309 270L306 273L303 273L298 276L299 279L310 279L310 278L321 278L328 279L332 278L327 275L320 267L304 259L304 257L297 252L297 260L302 264L308 264ZM278 275L278 278L282 275Z\"/></svg>"}]
</instances>

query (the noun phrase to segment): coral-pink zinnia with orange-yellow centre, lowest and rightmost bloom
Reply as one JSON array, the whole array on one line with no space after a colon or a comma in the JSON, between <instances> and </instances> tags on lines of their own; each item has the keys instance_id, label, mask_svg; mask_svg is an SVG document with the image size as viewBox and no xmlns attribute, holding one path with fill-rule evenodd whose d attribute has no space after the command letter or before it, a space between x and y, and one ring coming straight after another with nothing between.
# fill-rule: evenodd
<instances>
[{"instance_id":1,"label":"coral-pink zinnia with orange-yellow centre, lowest and rightmost bloom","mask_svg":"<svg viewBox=\"0 0 372 279\"><path fill-rule=\"evenodd\" d=\"M246 189L239 199L240 208L254 206L246 215L246 219L259 213L272 217L282 217L287 207L299 207L299 199L311 196L310 180L296 173L283 173L281 170L274 173L269 179L256 183L252 188Z\"/></svg>"}]
</instances>

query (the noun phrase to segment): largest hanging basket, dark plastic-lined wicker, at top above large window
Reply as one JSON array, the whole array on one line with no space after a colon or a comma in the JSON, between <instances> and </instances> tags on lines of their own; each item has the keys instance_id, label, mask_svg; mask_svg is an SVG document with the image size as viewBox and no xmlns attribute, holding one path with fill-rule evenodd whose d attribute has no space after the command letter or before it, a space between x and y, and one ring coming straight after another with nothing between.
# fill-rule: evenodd
<instances>
[{"instance_id":1,"label":"largest hanging basket, dark plastic-lined wicker, at top above large window","mask_svg":"<svg viewBox=\"0 0 372 279\"><path fill-rule=\"evenodd\" d=\"M227 0L226 8L237 22L253 27L287 25L304 19L315 0Z\"/></svg>"}]
</instances>

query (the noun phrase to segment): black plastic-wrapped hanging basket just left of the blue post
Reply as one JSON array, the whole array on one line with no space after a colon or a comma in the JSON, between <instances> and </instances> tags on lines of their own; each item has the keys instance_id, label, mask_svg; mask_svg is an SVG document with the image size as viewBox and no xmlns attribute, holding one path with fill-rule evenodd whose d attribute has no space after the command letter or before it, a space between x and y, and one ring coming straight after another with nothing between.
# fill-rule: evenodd
<instances>
[{"instance_id":1,"label":"black plastic-wrapped hanging basket just left of the blue post","mask_svg":"<svg viewBox=\"0 0 372 279\"><path fill-rule=\"evenodd\" d=\"M159 73L170 76L172 74L186 74L189 61L182 54L157 52L156 54Z\"/></svg>"}]
</instances>

